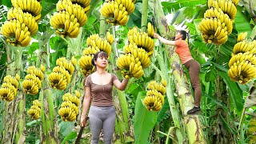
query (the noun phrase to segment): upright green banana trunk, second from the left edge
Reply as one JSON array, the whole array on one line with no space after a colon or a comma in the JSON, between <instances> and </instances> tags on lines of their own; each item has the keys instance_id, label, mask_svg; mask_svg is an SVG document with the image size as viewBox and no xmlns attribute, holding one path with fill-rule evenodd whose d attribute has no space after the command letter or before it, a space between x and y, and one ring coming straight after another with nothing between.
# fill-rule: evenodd
<instances>
[{"instance_id":1,"label":"upright green banana trunk, second from the left edge","mask_svg":"<svg viewBox=\"0 0 256 144\"><path fill-rule=\"evenodd\" d=\"M37 66L42 64L46 66L45 77L42 81L42 90L40 91L39 100L42 104L41 107L41 140L40 143L58 143L58 122L56 121L56 112L54 110L54 98L53 92L50 89L48 81L48 73L50 71L50 35L53 33L52 30L47 30L43 35L38 36L39 47L41 48L39 52L40 60L37 62Z\"/></svg>"}]
</instances>

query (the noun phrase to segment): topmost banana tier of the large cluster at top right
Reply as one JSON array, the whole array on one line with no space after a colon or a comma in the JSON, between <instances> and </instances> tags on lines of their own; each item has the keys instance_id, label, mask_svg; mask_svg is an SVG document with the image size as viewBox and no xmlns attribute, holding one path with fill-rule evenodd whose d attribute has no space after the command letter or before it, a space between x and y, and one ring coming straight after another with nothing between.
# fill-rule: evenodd
<instances>
[{"instance_id":1,"label":"topmost banana tier of the large cluster at top right","mask_svg":"<svg viewBox=\"0 0 256 144\"><path fill-rule=\"evenodd\" d=\"M237 3L237 2L236 2ZM230 19L234 22L234 17L237 14L237 8L235 3L230 0L209 0L209 7L215 7L222 9L225 14L228 14Z\"/></svg>"}]
</instances>

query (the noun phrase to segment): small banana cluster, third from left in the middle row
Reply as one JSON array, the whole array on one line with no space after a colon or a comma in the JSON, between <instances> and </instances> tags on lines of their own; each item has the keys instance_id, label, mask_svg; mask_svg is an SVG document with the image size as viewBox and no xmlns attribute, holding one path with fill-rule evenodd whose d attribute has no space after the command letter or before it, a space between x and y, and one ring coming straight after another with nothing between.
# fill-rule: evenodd
<instances>
[{"instance_id":1,"label":"small banana cluster, third from left in the middle row","mask_svg":"<svg viewBox=\"0 0 256 144\"><path fill-rule=\"evenodd\" d=\"M71 58L71 62L64 57L58 58L53 72L48 77L50 86L54 89L65 90L70 83L76 63L77 60L74 57Z\"/></svg>"}]
</instances>

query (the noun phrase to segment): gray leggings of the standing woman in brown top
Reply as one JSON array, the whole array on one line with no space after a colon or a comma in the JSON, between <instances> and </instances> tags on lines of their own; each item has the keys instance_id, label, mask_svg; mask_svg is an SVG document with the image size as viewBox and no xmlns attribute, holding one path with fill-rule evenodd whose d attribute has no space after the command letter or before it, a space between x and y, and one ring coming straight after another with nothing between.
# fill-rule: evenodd
<instances>
[{"instance_id":1,"label":"gray leggings of the standing woman in brown top","mask_svg":"<svg viewBox=\"0 0 256 144\"><path fill-rule=\"evenodd\" d=\"M104 144L110 144L114 133L115 108L114 106L90 106L88 114L91 144L98 144L99 134L103 129Z\"/></svg>"}]
</instances>

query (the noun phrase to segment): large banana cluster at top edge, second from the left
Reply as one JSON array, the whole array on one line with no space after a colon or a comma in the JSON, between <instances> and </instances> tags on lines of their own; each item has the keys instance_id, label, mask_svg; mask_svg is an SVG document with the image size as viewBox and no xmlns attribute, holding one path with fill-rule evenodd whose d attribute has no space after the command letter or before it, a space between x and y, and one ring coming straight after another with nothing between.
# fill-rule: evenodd
<instances>
[{"instance_id":1,"label":"large banana cluster at top edge, second from the left","mask_svg":"<svg viewBox=\"0 0 256 144\"><path fill-rule=\"evenodd\" d=\"M90 0L59 0L57 12L50 18L50 25L63 37L78 37L80 27L87 22L86 12L90 10Z\"/></svg>"}]
</instances>

